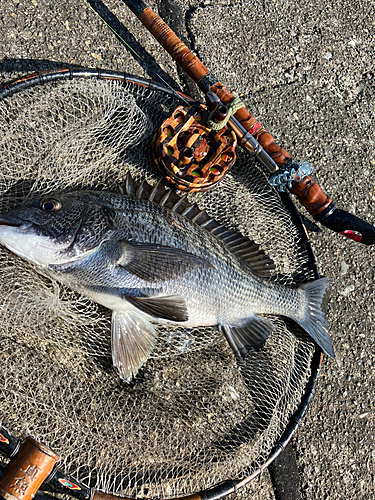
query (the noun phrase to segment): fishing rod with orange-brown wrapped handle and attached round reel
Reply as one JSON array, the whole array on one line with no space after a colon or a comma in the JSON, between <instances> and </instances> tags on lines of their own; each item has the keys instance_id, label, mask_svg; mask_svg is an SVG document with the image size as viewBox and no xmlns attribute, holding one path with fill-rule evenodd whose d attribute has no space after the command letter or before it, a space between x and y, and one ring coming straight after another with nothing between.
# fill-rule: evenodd
<instances>
[{"instance_id":1,"label":"fishing rod with orange-brown wrapped handle and attached round reel","mask_svg":"<svg viewBox=\"0 0 375 500\"><path fill-rule=\"evenodd\" d=\"M181 107L159 129L154 161L169 182L186 191L211 189L233 165L238 143L271 173L271 185L289 190L320 224L365 245L375 243L375 227L337 209L310 177L310 163L293 160L150 7L123 1L206 96L209 112L198 104L187 112Z\"/></svg>"}]
</instances>

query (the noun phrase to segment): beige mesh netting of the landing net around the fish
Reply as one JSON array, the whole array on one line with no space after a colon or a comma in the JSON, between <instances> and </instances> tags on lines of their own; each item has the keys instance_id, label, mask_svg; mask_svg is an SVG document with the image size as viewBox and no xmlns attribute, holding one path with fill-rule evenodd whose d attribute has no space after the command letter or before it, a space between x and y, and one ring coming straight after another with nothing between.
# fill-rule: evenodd
<instances>
[{"instance_id":1,"label":"beige mesh netting of the landing net around the fish","mask_svg":"<svg viewBox=\"0 0 375 500\"><path fill-rule=\"evenodd\" d=\"M133 84L73 79L0 101L0 210L35 195L112 189L129 171L155 183L150 142L180 100ZM255 240L285 284L307 258L289 213L245 155L212 192L191 199ZM159 327L130 384L112 367L110 311L0 249L0 420L60 454L90 487L174 497L260 467L298 407L313 344L277 329L238 363L216 328Z\"/></svg>"}]
</instances>

